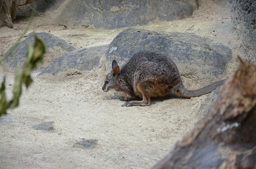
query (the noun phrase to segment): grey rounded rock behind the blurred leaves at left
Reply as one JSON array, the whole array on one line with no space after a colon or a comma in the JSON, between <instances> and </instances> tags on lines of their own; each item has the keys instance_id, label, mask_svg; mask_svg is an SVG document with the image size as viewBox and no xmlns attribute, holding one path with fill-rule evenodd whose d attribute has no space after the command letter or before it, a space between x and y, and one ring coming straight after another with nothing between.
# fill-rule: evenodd
<instances>
[{"instance_id":1,"label":"grey rounded rock behind the blurred leaves at left","mask_svg":"<svg viewBox=\"0 0 256 169\"><path fill-rule=\"evenodd\" d=\"M52 58L59 57L64 53L70 53L76 48L68 44L65 40L62 40L50 33L33 33L21 41L12 54L6 59L5 64L11 69L21 69L25 62L25 56L28 51L28 44L33 45L35 42L35 35L41 37L44 40L47 48L47 52L44 55L44 64L39 65L39 69L46 68Z\"/></svg>"}]
</instances>

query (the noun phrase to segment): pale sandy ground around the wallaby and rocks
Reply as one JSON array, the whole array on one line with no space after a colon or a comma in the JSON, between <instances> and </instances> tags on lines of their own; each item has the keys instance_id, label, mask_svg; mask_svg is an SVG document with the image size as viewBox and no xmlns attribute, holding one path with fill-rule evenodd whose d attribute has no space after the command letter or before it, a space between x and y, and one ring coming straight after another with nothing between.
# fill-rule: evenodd
<instances>
[{"instance_id":1,"label":"pale sandy ground around the wallaby and rocks","mask_svg":"<svg viewBox=\"0 0 256 169\"><path fill-rule=\"evenodd\" d=\"M225 1L199 2L199 10L190 18L155 21L135 28L187 30L228 45L233 51L228 77L237 68L236 55L243 56L228 5ZM29 30L52 33L77 48L109 44L125 29L97 30L82 26L64 29L47 24L50 18L48 13L37 15ZM0 58L18 39L27 22L16 21L14 29L0 28ZM42 78L37 76L38 72L33 73L34 82L28 89L23 88L20 106L0 117L0 168L150 168L203 118L199 111L207 95L153 99L149 107L120 107L122 94L101 90L105 77L103 62L100 68L81 75L63 73ZM13 72L0 66L0 81L4 75L10 99ZM194 86L197 87L200 86ZM42 121L53 121L54 131L31 128ZM72 145L87 139L97 139L98 143L85 149Z\"/></svg>"}]
</instances>

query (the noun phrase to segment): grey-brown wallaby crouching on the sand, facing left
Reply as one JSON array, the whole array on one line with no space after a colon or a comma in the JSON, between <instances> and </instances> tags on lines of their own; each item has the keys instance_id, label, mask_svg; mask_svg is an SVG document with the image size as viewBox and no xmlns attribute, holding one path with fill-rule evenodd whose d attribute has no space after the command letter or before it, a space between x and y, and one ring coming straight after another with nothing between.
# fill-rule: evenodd
<instances>
[{"instance_id":1,"label":"grey-brown wallaby crouching on the sand, facing left","mask_svg":"<svg viewBox=\"0 0 256 169\"><path fill-rule=\"evenodd\" d=\"M184 87L172 59L158 52L143 51L133 55L121 70L116 60L113 60L112 70L106 76L102 90L123 92L124 99L121 100L126 102L122 106L149 106L150 97L166 96L170 91L185 98L201 96L222 85L224 81L220 80L197 90L188 90ZM132 100L136 96L142 100Z\"/></svg>"}]
</instances>

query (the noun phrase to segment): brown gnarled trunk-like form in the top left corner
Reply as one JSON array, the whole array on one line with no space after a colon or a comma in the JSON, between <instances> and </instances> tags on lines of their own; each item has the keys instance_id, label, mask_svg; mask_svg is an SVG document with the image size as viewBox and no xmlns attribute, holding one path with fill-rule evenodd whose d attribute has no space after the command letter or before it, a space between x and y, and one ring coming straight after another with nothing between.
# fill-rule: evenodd
<instances>
[{"instance_id":1,"label":"brown gnarled trunk-like form in the top left corner","mask_svg":"<svg viewBox=\"0 0 256 169\"><path fill-rule=\"evenodd\" d=\"M0 0L0 27L12 28L12 21L16 18L16 8L29 4L35 0Z\"/></svg>"}]
</instances>

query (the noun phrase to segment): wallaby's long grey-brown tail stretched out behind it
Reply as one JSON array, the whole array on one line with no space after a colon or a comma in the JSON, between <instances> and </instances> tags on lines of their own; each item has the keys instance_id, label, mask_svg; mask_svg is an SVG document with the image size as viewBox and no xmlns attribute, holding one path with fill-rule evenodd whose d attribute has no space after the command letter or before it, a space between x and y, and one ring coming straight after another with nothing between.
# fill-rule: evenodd
<instances>
[{"instance_id":1,"label":"wallaby's long grey-brown tail stretched out behind it","mask_svg":"<svg viewBox=\"0 0 256 169\"><path fill-rule=\"evenodd\" d=\"M202 87L200 89L196 90L188 90L185 87L180 87L176 92L185 98L191 98L191 97L197 97L201 96L206 93L210 93L212 90L216 89L218 86L222 85L225 82L226 79L220 80L218 82L214 82L210 85L207 85L205 87ZM174 89L175 90L175 89Z\"/></svg>"}]
</instances>

